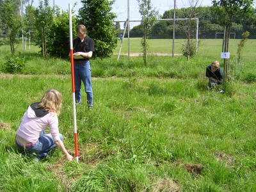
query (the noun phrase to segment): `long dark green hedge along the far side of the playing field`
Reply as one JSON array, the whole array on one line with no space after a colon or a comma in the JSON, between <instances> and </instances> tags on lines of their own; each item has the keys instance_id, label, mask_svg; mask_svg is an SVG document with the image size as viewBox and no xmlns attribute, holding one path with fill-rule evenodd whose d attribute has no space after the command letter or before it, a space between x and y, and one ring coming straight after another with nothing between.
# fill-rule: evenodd
<instances>
[{"instance_id":1,"label":"long dark green hedge along the far side of the playing field","mask_svg":"<svg viewBox=\"0 0 256 192\"><path fill-rule=\"evenodd\" d=\"M215 38L215 32L222 32L223 31L223 23L220 22L221 19L225 20L224 16L221 16L214 6L200 6L196 8L197 13L196 17L199 20L199 36L200 38ZM163 17L161 19L169 19L173 17L174 10L166 10L163 13ZM188 8L179 8L175 10L177 19L188 18L189 17L189 7ZM222 11L221 11L222 12ZM233 15L233 22L232 22L232 32L236 33L236 38L242 38L241 34L243 31L249 31L253 34L254 23L255 23L255 8L250 8L250 13L236 13ZM224 18L223 18L224 17ZM163 21L161 21L163 22ZM172 26L173 21L166 21L164 20L166 25L161 25L161 30L166 31L166 35L169 35L169 38L172 38ZM184 38L186 34L184 33L184 29L182 26L188 25L187 20L176 20L175 22L175 37L176 38ZM159 27L159 26L157 26ZM168 27L170 29L168 29ZM157 28L156 28L157 29ZM158 36L161 31L157 31L153 29L154 35ZM159 35L160 36L160 35Z\"/></svg>"}]
</instances>

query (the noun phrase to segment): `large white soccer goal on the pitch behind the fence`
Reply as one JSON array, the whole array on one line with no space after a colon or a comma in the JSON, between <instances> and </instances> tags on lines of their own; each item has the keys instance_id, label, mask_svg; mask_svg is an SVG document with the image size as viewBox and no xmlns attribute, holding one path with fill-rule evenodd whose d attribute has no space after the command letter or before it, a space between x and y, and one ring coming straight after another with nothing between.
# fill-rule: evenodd
<instances>
[{"instance_id":1,"label":"large white soccer goal on the pitch behind the fence","mask_svg":"<svg viewBox=\"0 0 256 192\"><path fill-rule=\"evenodd\" d=\"M181 44L186 40L186 26L188 26L188 18L184 19L159 19L156 24L154 33L152 33L148 40L149 51L148 54L152 56L172 56L172 55L182 55ZM198 18L191 18L190 20L194 20L193 25L191 26L191 38L195 40L196 52L198 49ZM140 42L141 38L143 38L143 31L140 30L139 25L143 22L142 20L113 20L115 26L118 26L119 29L116 36L120 40L120 47L118 50L117 60L120 58L120 54L125 54L127 56L138 56L141 54L140 50ZM174 22L178 22L179 30L180 28L184 28L184 30L180 30L181 33L175 33L175 30L171 29L171 26ZM123 29L120 26L124 26ZM167 27L166 27L167 26ZM129 28L129 30L127 30ZM175 44L175 45L174 45ZM175 47L175 52L174 52ZM117 52L117 50L116 50Z\"/></svg>"}]
</instances>

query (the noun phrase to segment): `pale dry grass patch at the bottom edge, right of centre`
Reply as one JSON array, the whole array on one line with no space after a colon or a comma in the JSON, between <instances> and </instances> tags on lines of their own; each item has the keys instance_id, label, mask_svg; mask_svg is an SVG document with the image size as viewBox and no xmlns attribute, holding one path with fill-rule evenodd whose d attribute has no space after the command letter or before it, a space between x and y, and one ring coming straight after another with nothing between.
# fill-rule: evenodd
<instances>
[{"instance_id":1,"label":"pale dry grass patch at the bottom edge, right of centre","mask_svg":"<svg viewBox=\"0 0 256 192\"><path fill-rule=\"evenodd\" d=\"M158 182L154 183L152 186L152 192L179 192L179 184L174 182L172 179L161 179Z\"/></svg>"}]
</instances>

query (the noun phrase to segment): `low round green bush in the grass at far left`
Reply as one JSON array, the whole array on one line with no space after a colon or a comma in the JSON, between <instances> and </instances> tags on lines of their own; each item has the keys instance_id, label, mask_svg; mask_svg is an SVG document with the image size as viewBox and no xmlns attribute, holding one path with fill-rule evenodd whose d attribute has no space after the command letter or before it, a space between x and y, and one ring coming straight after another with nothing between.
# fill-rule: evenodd
<instances>
[{"instance_id":1,"label":"low round green bush in the grass at far left","mask_svg":"<svg viewBox=\"0 0 256 192\"><path fill-rule=\"evenodd\" d=\"M26 59L24 58L19 58L19 56L7 56L5 58L5 68L4 72L10 73L10 74L16 74L20 73L22 69L25 67L26 64Z\"/></svg>"}]
</instances>

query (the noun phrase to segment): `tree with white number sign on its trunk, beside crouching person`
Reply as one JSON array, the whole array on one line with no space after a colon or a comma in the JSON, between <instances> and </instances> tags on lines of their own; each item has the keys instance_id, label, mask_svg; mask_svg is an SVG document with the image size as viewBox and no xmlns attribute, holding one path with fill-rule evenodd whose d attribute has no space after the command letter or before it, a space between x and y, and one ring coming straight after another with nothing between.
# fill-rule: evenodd
<instances>
[{"instance_id":1,"label":"tree with white number sign on its trunk, beside crouching person","mask_svg":"<svg viewBox=\"0 0 256 192\"><path fill-rule=\"evenodd\" d=\"M250 15L253 10L253 0L214 0L212 1L215 11L218 15L219 22L225 26L225 42L223 52L228 52L228 41L230 38L230 30L235 15L244 18L244 15ZM228 60L224 59L224 82L228 76Z\"/></svg>"}]
</instances>

